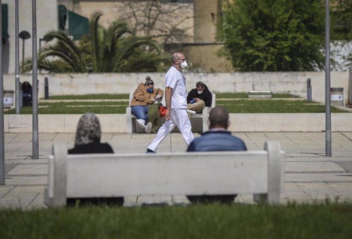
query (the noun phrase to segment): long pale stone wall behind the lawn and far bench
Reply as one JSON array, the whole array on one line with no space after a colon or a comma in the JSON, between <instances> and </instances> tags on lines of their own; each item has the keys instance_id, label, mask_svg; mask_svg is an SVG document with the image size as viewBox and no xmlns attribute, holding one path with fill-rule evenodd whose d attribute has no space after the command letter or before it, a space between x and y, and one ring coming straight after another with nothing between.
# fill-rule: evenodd
<instances>
[{"instance_id":1,"label":"long pale stone wall behind the lawn and far bench","mask_svg":"<svg viewBox=\"0 0 352 239\"><path fill-rule=\"evenodd\" d=\"M44 77L49 79L49 95L129 93L134 91L145 77L150 76L155 87L164 88L165 73L124 73L124 74L56 74L38 75L38 97L44 97ZM324 72L266 72L266 73L185 73L188 91L203 81L215 92L247 92L249 90L271 90L274 93L292 93L307 96L306 80L312 79L312 98L325 101ZM332 72L331 87L343 87L347 101L349 73ZM32 84L32 75L21 75L20 81ZM4 89L15 90L15 75L4 75Z\"/></svg>"}]
</instances>

